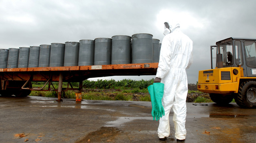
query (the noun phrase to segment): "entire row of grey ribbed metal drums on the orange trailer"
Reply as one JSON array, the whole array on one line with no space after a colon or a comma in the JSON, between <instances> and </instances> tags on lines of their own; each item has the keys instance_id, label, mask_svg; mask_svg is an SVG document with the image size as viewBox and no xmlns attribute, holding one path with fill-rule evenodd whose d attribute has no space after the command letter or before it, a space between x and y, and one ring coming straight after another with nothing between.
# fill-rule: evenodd
<instances>
[{"instance_id":1,"label":"entire row of grey ribbed metal drums on the orange trailer","mask_svg":"<svg viewBox=\"0 0 256 143\"><path fill-rule=\"evenodd\" d=\"M117 35L79 42L0 49L0 68L89 66L159 62L161 44L151 34Z\"/></svg>"}]
</instances>

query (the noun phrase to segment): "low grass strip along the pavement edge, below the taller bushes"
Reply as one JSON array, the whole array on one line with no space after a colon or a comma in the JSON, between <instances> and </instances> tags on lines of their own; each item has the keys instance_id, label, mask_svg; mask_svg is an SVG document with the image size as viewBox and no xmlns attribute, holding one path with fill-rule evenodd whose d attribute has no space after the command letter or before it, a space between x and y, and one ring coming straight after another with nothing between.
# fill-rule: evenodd
<instances>
[{"instance_id":1,"label":"low grass strip along the pavement edge, below the taller bushes","mask_svg":"<svg viewBox=\"0 0 256 143\"><path fill-rule=\"evenodd\" d=\"M42 87L45 82L33 82L33 87ZM79 83L71 83L73 88L78 88ZM58 82L53 82L55 88L58 87ZM48 85L46 85L48 88ZM67 83L63 83L64 88L67 88ZM71 87L69 85L69 87ZM124 86L114 87L113 89L84 89L82 99L84 100L125 100L125 101L151 101L148 88L128 88ZM62 98L75 99L75 92L68 90L62 92ZM188 90L188 94L196 94L194 102L212 102L209 95L203 92ZM32 91L30 96L43 96L57 98L56 91ZM193 101L193 100L192 100ZM232 101L234 102L234 100Z\"/></svg>"}]
</instances>

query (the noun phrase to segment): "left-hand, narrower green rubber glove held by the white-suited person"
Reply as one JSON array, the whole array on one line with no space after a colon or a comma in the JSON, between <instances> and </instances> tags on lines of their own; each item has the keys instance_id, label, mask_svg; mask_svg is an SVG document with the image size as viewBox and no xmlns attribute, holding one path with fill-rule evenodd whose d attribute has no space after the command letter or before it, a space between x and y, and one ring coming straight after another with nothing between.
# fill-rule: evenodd
<instances>
[{"instance_id":1,"label":"left-hand, narrower green rubber glove held by the white-suited person","mask_svg":"<svg viewBox=\"0 0 256 143\"><path fill-rule=\"evenodd\" d=\"M152 114L152 117L153 117L153 120L156 119L158 120L158 108L157 108L157 102L156 102L156 99L154 97L154 86L153 85L149 85L148 86L148 92L150 94L150 98L151 98L151 104L152 104L152 111L151 111L151 114Z\"/></svg>"}]
</instances>

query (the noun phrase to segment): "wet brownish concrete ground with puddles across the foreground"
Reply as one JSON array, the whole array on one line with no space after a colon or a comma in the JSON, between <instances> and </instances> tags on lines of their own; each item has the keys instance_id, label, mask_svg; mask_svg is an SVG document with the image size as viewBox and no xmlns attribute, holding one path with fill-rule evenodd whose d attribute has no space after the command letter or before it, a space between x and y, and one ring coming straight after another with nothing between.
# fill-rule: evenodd
<instances>
[{"instance_id":1,"label":"wet brownish concrete ground with puddles across the foreground","mask_svg":"<svg viewBox=\"0 0 256 143\"><path fill-rule=\"evenodd\" d=\"M173 112L170 137L159 141L151 102L55 99L0 96L0 143L176 143ZM207 105L187 103L186 143L255 143L256 109Z\"/></svg>"}]
</instances>

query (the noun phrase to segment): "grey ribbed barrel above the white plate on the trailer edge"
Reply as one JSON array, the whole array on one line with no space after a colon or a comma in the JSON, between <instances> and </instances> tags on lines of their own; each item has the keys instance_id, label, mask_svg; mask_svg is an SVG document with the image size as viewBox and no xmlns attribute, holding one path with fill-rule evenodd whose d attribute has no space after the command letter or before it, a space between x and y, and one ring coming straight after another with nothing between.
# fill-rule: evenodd
<instances>
[{"instance_id":1,"label":"grey ribbed barrel above the white plate on the trailer edge","mask_svg":"<svg viewBox=\"0 0 256 143\"><path fill-rule=\"evenodd\" d=\"M94 65L111 64L111 38L96 38L94 49Z\"/></svg>"}]
</instances>

